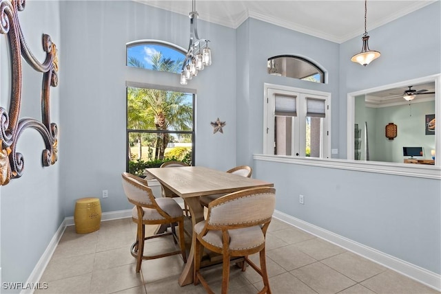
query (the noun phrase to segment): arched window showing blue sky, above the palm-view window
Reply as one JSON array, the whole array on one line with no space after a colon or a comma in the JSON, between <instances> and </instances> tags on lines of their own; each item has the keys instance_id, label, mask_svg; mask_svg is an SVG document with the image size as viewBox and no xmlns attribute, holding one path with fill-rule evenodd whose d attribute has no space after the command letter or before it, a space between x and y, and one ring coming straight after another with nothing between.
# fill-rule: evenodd
<instances>
[{"instance_id":1,"label":"arched window showing blue sky, above the palm-view window","mask_svg":"<svg viewBox=\"0 0 441 294\"><path fill-rule=\"evenodd\" d=\"M185 51L172 43L141 40L127 43L126 65L181 74Z\"/></svg>"}]
</instances>

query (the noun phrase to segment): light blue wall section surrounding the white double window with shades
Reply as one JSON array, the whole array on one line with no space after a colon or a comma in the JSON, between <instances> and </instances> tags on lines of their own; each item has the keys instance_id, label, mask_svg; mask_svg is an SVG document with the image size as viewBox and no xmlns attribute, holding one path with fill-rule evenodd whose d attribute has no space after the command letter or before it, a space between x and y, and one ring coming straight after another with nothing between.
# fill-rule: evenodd
<instances>
[{"instance_id":1,"label":"light blue wall section surrounding the white double window with shades","mask_svg":"<svg viewBox=\"0 0 441 294\"><path fill-rule=\"evenodd\" d=\"M240 38L239 38L240 36ZM238 27L237 161L252 165L252 155L263 152L263 84L312 89L331 93L332 148L338 148L339 91L338 44L300 32L287 30L256 19ZM327 84L271 76L267 59L289 54L305 56L327 71Z\"/></svg>"}]
</instances>

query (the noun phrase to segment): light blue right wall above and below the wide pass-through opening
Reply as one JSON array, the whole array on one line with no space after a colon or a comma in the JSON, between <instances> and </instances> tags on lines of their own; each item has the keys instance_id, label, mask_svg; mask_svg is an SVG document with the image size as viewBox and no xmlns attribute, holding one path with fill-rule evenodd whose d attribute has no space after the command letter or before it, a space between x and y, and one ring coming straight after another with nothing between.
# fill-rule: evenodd
<instances>
[{"instance_id":1,"label":"light blue right wall above and below the wide pass-through opening","mask_svg":"<svg viewBox=\"0 0 441 294\"><path fill-rule=\"evenodd\" d=\"M347 93L440 74L440 5L437 1L369 32L369 46L382 56L367 67L350 60L360 51L361 38L340 45L336 71L339 78L332 79L334 72L329 77L330 82L339 84L338 91L332 91L332 135L333 146L334 140L339 140L340 158L345 159L347 154ZM278 36L275 32L273 35ZM409 38L412 45L404 45ZM313 43L309 45L315 47ZM250 71L250 75L255 71ZM334 84L331 89L335 89ZM371 120L372 116L367 113L365 119ZM377 124L374 129L379 127ZM334 133L339 137L334 137ZM274 183L276 210L441 273L439 180L259 160L254 161L254 170L256 178ZM299 194L305 196L305 205L299 205Z\"/></svg>"}]
</instances>

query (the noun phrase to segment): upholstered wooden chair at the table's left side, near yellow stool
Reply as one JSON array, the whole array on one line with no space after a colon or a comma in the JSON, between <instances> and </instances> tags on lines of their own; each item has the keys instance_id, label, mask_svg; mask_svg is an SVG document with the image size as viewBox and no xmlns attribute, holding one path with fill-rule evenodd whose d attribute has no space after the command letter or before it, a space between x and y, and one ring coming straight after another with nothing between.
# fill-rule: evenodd
<instances>
[{"instance_id":1,"label":"upholstered wooden chair at the table's left side, near yellow stool","mask_svg":"<svg viewBox=\"0 0 441 294\"><path fill-rule=\"evenodd\" d=\"M175 254L182 254L184 262L187 262L185 256L184 242L184 216L181 206L170 198L155 199L152 189L147 185L147 181L134 174L123 172L123 189L127 199L135 206L132 210L132 220L138 225L136 230L136 240L130 251L136 258L136 273L141 269L143 260L162 258ZM177 223L179 227L179 238L172 231L163 234L155 234L145 237L145 225L163 225ZM144 241L152 238L159 238L172 235L175 245L179 243L180 249L158 254L156 256L144 256Z\"/></svg>"}]
</instances>

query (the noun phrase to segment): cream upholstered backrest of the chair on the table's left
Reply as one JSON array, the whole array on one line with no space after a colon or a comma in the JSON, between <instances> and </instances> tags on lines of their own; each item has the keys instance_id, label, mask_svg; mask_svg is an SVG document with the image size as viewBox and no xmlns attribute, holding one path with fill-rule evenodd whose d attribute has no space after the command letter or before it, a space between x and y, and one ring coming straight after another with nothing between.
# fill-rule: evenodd
<instances>
[{"instance_id":1,"label":"cream upholstered backrest of the chair on the table's left","mask_svg":"<svg viewBox=\"0 0 441 294\"><path fill-rule=\"evenodd\" d=\"M135 205L154 205L152 189L147 181L128 172L123 172L123 189L127 199Z\"/></svg>"}]
</instances>

